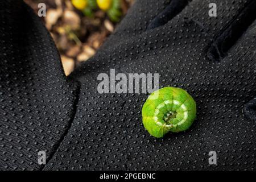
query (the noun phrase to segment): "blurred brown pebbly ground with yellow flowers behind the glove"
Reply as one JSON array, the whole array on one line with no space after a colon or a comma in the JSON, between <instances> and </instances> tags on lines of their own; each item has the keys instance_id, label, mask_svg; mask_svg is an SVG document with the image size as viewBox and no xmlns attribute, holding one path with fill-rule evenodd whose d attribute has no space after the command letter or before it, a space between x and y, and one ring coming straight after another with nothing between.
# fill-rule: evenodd
<instances>
[{"instance_id":1,"label":"blurred brown pebbly ground with yellow flowers behind the glove","mask_svg":"<svg viewBox=\"0 0 256 182\"><path fill-rule=\"evenodd\" d=\"M135 0L24 0L38 14L61 55L65 75L88 60L114 31Z\"/></svg>"}]
</instances>

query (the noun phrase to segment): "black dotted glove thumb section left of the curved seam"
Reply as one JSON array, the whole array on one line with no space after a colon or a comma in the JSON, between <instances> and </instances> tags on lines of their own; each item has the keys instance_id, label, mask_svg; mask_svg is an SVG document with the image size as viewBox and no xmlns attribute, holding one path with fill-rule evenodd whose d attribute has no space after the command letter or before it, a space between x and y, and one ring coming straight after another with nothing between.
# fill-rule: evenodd
<instances>
[{"instance_id":1,"label":"black dotted glove thumb section left of the curved seam","mask_svg":"<svg viewBox=\"0 0 256 182\"><path fill-rule=\"evenodd\" d=\"M68 129L75 87L49 32L22 1L0 3L0 169L32 170Z\"/></svg>"}]
</instances>

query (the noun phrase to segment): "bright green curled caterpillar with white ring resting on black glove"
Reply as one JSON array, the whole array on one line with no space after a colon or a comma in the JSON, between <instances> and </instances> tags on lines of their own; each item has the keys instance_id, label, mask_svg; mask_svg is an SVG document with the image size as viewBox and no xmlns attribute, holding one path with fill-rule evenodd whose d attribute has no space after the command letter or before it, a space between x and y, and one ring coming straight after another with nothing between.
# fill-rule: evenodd
<instances>
[{"instance_id":1,"label":"bright green curled caterpillar with white ring resting on black glove","mask_svg":"<svg viewBox=\"0 0 256 182\"><path fill-rule=\"evenodd\" d=\"M143 125L153 137L187 130L196 118L196 102L183 89L165 87L153 92L142 107Z\"/></svg>"}]
</instances>

